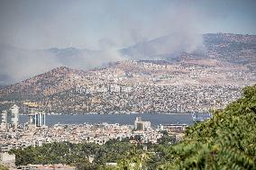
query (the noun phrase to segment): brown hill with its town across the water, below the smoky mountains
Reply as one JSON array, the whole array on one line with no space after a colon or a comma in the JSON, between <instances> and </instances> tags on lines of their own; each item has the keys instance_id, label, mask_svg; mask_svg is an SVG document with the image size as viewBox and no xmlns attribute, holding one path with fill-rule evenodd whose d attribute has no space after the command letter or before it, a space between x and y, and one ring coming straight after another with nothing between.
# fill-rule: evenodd
<instances>
[{"instance_id":1,"label":"brown hill with its town across the water, below the smoky mountains","mask_svg":"<svg viewBox=\"0 0 256 170\"><path fill-rule=\"evenodd\" d=\"M248 67L184 58L118 61L87 71L57 67L0 89L0 110L32 101L49 112L184 112L178 103L186 100L185 112L202 112L256 82Z\"/></svg>"}]
</instances>

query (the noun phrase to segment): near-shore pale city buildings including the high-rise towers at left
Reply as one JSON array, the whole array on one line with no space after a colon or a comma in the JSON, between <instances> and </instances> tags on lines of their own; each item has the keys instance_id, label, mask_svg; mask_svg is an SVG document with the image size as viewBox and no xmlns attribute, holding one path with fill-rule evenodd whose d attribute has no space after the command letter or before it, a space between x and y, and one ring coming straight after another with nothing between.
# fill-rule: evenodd
<instances>
[{"instance_id":1,"label":"near-shore pale city buildings including the high-rise towers at left","mask_svg":"<svg viewBox=\"0 0 256 170\"><path fill-rule=\"evenodd\" d=\"M2 112L0 130L0 161L12 168L15 156L8 151L12 148L41 147L52 142L70 143L96 143L104 145L110 139L127 139L131 143L158 143L163 130L180 140L187 124L159 125L156 129L151 127L150 121L143 121L141 117L134 120L133 125L108 124L55 124L46 126L47 115L38 110L36 103L24 103L28 121L19 124L20 108L14 104L9 110ZM26 168L28 166L25 166ZM62 168L66 168L63 166Z\"/></svg>"}]
</instances>

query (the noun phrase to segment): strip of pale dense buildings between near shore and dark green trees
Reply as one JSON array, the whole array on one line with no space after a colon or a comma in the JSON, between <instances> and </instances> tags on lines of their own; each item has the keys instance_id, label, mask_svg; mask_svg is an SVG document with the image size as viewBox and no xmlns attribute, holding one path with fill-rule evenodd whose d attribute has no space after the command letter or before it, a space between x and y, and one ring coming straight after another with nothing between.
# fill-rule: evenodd
<instances>
[{"instance_id":1,"label":"strip of pale dense buildings between near shore and dark green trees","mask_svg":"<svg viewBox=\"0 0 256 170\"><path fill-rule=\"evenodd\" d=\"M14 109L14 107L12 107ZM2 113L5 116L5 112ZM29 118L31 114L27 115ZM150 121L143 121L141 117L134 120L133 125L120 125L118 123L99 124L55 124L45 126L45 113L35 112L34 125L29 122L20 124L17 129L0 130L0 151L7 152L12 148L26 148L29 146L42 146L44 143L64 142L70 143L96 143L104 145L110 139L128 139L131 142L158 143L162 137L162 130L171 132L173 126L152 128ZM5 120L5 119L4 119ZM28 119L30 121L30 119ZM5 123L2 121L2 123ZM182 125L183 126L183 125ZM172 128L171 128L172 127ZM182 134L185 129L173 131ZM180 136L180 135L179 135Z\"/></svg>"}]
</instances>

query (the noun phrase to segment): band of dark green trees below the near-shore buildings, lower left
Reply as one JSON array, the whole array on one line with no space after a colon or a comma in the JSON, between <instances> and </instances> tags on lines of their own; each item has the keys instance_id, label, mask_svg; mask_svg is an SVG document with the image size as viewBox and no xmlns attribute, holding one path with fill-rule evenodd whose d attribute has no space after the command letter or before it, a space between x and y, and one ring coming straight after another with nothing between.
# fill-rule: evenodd
<instances>
[{"instance_id":1,"label":"band of dark green trees below the near-shore buildings, lower left","mask_svg":"<svg viewBox=\"0 0 256 170\"><path fill-rule=\"evenodd\" d=\"M17 166L28 164L68 164L78 165L82 169L94 169L105 165L106 162L117 162L125 158L123 153L132 150L129 142L110 140L100 146L94 143L72 144L69 142L44 144L42 147L12 149ZM88 162L88 157L95 158L95 165ZM87 167L87 168L86 168Z\"/></svg>"}]
</instances>

